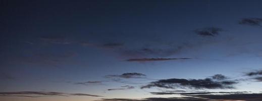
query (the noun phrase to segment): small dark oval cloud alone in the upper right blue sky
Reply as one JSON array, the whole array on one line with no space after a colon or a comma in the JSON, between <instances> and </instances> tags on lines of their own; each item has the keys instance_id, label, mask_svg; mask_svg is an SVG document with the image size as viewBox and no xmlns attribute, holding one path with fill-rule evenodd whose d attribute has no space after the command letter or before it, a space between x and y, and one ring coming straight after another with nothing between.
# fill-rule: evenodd
<instances>
[{"instance_id":1,"label":"small dark oval cloud alone in the upper right blue sky","mask_svg":"<svg viewBox=\"0 0 262 101\"><path fill-rule=\"evenodd\" d=\"M201 36L216 36L221 31L223 31L222 28L209 27L209 28L196 29L195 33Z\"/></svg>"}]
</instances>

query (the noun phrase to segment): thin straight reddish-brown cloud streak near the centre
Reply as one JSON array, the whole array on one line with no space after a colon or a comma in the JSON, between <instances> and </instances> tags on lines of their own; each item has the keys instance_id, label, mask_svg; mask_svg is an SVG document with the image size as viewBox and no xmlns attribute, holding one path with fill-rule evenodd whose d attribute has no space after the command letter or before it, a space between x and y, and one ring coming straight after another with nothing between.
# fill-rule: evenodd
<instances>
[{"instance_id":1,"label":"thin straight reddish-brown cloud streak near the centre","mask_svg":"<svg viewBox=\"0 0 262 101\"><path fill-rule=\"evenodd\" d=\"M188 60L191 58L142 58L142 59L128 59L128 62L150 62L150 61L169 61L169 60Z\"/></svg>"}]
</instances>

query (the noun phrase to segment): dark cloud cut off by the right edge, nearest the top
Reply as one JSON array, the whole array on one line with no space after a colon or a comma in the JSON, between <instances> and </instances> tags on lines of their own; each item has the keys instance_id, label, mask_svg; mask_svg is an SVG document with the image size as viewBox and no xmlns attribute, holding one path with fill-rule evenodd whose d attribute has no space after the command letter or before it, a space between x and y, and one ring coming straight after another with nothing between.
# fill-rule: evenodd
<instances>
[{"instance_id":1,"label":"dark cloud cut off by the right edge, nearest the top","mask_svg":"<svg viewBox=\"0 0 262 101\"><path fill-rule=\"evenodd\" d=\"M239 21L241 25L250 25L250 26L261 26L262 19L261 18L244 18Z\"/></svg>"}]
</instances>

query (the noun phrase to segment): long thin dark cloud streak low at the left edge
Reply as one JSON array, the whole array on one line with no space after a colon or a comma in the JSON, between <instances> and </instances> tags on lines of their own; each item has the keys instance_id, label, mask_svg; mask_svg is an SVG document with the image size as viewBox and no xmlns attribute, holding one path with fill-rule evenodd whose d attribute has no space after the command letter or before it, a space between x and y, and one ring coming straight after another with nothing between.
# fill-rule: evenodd
<instances>
[{"instance_id":1,"label":"long thin dark cloud streak low at the left edge","mask_svg":"<svg viewBox=\"0 0 262 101\"><path fill-rule=\"evenodd\" d=\"M71 96L71 95L102 97L100 95L92 95L92 94L85 94L85 93L64 93L64 92L45 92L45 91L0 92L0 96L23 96L23 97Z\"/></svg>"}]
</instances>

